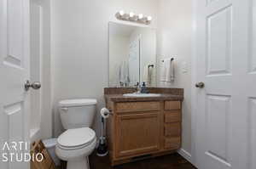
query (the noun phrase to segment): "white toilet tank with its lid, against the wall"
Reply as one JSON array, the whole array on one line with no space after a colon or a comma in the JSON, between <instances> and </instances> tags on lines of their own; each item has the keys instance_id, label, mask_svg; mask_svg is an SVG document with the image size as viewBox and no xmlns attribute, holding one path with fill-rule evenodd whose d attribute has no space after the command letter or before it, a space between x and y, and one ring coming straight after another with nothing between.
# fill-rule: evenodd
<instances>
[{"instance_id":1,"label":"white toilet tank with its lid, against the wall","mask_svg":"<svg viewBox=\"0 0 256 169\"><path fill-rule=\"evenodd\" d=\"M58 109L64 129L91 127L96 114L96 99L61 100Z\"/></svg>"}]
</instances>

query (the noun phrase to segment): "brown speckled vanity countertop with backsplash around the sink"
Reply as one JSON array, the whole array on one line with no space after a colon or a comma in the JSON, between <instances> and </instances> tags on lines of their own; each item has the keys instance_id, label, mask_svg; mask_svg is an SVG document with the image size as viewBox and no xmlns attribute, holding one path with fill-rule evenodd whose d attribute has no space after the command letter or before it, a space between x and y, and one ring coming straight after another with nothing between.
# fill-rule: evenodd
<instances>
[{"instance_id":1,"label":"brown speckled vanity countertop with backsplash around the sink","mask_svg":"<svg viewBox=\"0 0 256 169\"><path fill-rule=\"evenodd\" d=\"M183 100L182 88L148 87L149 93L160 93L157 97L127 97L124 93L134 93L134 87L108 87L104 88L106 101L132 102L132 101L160 101L160 100Z\"/></svg>"}]
</instances>

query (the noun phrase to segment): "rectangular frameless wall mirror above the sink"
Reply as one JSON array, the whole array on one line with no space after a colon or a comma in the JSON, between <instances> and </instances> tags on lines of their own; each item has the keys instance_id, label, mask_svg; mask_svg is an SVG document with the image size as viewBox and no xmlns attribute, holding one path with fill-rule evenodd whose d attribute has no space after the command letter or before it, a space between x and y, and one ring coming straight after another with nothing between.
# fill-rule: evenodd
<instances>
[{"instance_id":1,"label":"rectangular frameless wall mirror above the sink","mask_svg":"<svg viewBox=\"0 0 256 169\"><path fill-rule=\"evenodd\" d=\"M156 32L152 28L109 22L109 87L155 87Z\"/></svg>"}]
</instances>

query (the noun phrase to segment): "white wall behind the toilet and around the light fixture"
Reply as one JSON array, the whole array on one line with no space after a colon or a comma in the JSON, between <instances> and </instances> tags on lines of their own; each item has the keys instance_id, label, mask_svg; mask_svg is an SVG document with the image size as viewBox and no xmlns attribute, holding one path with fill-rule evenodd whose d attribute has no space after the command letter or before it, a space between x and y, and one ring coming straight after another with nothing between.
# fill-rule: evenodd
<instances>
[{"instance_id":1,"label":"white wall behind the toilet and around the light fixture","mask_svg":"<svg viewBox=\"0 0 256 169\"><path fill-rule=\"evenodd\" d=\"M114 14L123 9L151 15L151 26L156 27L158 1L54 0L51 3L53 103L60 99L96 98L100 109L104 105L103 87L108 87L108 21L117 21ZM54 114L54 132L58 135L62 129L56 109Z\"/></svg>"}]
</instances>

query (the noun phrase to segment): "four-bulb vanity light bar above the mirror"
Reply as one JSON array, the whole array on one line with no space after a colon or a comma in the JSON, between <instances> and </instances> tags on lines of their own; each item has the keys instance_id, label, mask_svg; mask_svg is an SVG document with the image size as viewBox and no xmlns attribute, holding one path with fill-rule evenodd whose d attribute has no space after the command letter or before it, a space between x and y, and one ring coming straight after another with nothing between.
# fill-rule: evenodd
<instances>
[{"instance_id":1,"label":"four-bulb vanity light bar above the mirror","mask_svg":"<svg viewBox=\"0 0 256 169\"><path fill-rule=\"evenodd\" d=\"M115 17L118 20L137 22L137 23L146 24L146 25L149 25L152 21L151 16L143 16L143 14L134 14L132 12L129 14L126 14L123 10L120 10L118 13L116 13Z\"/></svg>"}]
</instances>

